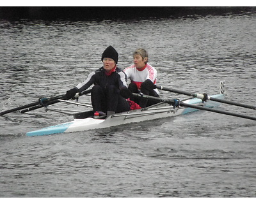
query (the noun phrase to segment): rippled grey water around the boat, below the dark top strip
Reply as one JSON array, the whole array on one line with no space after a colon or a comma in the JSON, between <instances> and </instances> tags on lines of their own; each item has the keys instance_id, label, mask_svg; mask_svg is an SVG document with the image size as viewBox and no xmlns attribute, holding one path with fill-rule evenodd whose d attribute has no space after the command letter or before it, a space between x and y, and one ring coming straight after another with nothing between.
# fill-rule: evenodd
<instances>
[{"instance_id":1,"label":"rippled grey water around the boat, below the dark top strip","mask_svg":"<svg viewBox=\"0 0 256 204\"><path fill-rule=\"evenodd\" d=\"M109 45L119 53L120 68L132 64L135 48L146 48L159 85L215 94L225 80L226 99L255 105L255 25L255 15L1 21L1 110L64 94L102 65ZM161 96L186 98L163 91ZM255 110L220 108L255 116ZM0 117L1 197L256 196L253 120L197 112L98 131L24 134L69 120L44 110Z\"/></svg>"}]
</instances>

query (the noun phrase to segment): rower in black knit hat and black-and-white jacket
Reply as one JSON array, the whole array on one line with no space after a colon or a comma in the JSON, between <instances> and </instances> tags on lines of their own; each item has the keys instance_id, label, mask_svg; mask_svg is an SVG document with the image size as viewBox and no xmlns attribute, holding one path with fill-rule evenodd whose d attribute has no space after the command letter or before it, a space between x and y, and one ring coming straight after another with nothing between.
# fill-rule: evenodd
<instances>
[{"instance_id":1,"label":"rower in black knit hat and black-and-white jacket","mask_svg":"<svg viewBox=\"0 0 256 204\"><path fill-rule=\"evenodd\" d=\"M109 46L102 53L103 66L88 75L84 82L66 93L66 99L74 98L77 92L82 92L94 84L91 100L95 116L112 115L113 113L130 110L129 103L120 96L120 89L127 89L124 72L116 66L118 52Z\"/></svg>"}]
</instances>

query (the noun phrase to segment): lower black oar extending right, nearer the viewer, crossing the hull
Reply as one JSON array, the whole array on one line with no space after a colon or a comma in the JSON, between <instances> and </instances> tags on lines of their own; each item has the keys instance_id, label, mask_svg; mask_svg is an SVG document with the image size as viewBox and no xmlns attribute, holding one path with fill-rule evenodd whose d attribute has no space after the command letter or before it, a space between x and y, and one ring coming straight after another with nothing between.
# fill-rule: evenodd
<instances>
[{"instance_id":1,"label":"lower black oar extending right, nearer the viewer, crossing the hull","mask_svg":"<svg viewBox=\"0 0 256 204\"><path fill-rule=\"evenodd\" d=\"M216 110L216 109L212 109L212 108L207 108L205 106L191 105L191 104L179 101L178 99L161 99L161 98L157 98L157 97L154 97L154 96L141 95L141 94L133 94L133 95L137 96L137 97L143 97L143 98L147 98L147 99L152 99L154 101L169 103L170 105L173 105L173 106L179 106L180 105L180 106L189 107L189 108L195 108L195 109L200 109L200 110L207 110L209 112L214 112L214 113L221 113L221 114L225 114L225 115L232 115L232 116L241 117L241 118L244 118L244 119L256 120L256 117L251 117L251 116L247 116L247 115L241 115L241 114L238 114L238 113L227 112L227 111L224 111L224 110Z\"/></svg>"}]
</instances>

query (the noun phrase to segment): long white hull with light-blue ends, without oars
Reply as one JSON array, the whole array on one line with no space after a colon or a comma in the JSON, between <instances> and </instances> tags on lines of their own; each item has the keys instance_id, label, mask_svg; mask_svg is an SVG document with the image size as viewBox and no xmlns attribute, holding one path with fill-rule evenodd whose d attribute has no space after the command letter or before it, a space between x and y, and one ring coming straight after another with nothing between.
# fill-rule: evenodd
<instances>
[{"instance_id":1,"label":"long white hull with light-blue ends, without oars","mask_svg":"<svg viewBox=\"0 0 256 204\"><path fill-rule=\"evenodd\" d=\"M225 94L216 94L210 96L211 98L224 99ZM202 101L202 99L191 98L182 101L184 104L204 106L213 108L219 106L220 103L215 101ZM141 122L145 120L163 119L166 117L175 117L177 115L184 115L190 112L195 112L198 109L186 108L184 106L173 107L168 103L157 103L156 105L138 110L131 110L129 112L115 113L106 119L94 119L93 112L83 112L74 114L74 120L65 122L56 126L50 126L43 129L38 129L26 133L27 136L51 135L56 133L73 133L79 131L88 131L92 129L109 128L113 126L120 126L123 124L130 124L132 122Z\"/></svg>"}]
</instances>

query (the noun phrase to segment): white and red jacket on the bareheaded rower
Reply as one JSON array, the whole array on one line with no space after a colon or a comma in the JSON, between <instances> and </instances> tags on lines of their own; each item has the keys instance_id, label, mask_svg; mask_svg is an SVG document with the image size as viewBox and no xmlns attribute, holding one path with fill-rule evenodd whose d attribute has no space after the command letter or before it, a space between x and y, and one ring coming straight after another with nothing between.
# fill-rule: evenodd
<instances>
[{"instance_id":1,"label":"white and red jacket on the bareheaded rower","mask_svg":"<svg viewBox=\"0 0 256 204\"><path fill-rule=\"evenodd\" d=\"M150 79L154 84L156 84L157 71L148 63L142 69L137 69L135 64L132 64L124 69L124 73L127 78L131 80L131 83L137 85L139 90L142 82L145 82L147 79ZM157 89L154 90L159 94Z\"/></svg>"}]
</instances>

